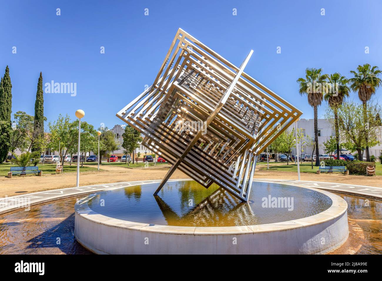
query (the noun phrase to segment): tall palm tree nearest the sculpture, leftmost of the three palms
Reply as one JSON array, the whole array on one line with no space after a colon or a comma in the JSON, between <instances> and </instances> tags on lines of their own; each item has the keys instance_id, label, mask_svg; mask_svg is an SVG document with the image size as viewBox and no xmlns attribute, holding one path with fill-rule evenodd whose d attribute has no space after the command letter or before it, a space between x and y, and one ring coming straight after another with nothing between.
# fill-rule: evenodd
<instances>
[{"instance_id":1,"label":"tall palm tree nearest the sculpture, leftmost of the three palms","mask_svg":"<svg viewBox=\"0 0 382 281\"><path fill-rule=\"evenodd\" d=\"M317 125L317 111L318 106L322 102L322 86L326 86L328 74L321 74L322 68L307 68L305 70L305 78L298 78L299 84L298 92L300 95L308 97L308 103L313 107L314 111L314 139L316 141L316 166L320 165L320 158L318 157L318 125ZM312 155L313 157L313 155Z\"/></svg>"}]
</instances>

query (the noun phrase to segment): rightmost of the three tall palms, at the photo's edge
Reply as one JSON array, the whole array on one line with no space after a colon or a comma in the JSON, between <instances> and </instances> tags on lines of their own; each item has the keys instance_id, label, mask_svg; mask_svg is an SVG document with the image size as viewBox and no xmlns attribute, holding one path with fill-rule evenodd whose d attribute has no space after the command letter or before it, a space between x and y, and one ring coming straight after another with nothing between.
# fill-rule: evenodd
<instances>
[{"instance_id":1,"label":"rightmost of the three tall palms, at the photo's edge","mask_svg":"<svg viewBox=\"0 0 382 281\"><path fill-rule=\"evenodd\" d=\"M368 63L364 65L359 65L357 71L350 71L354 75L354 78L350 78L350 88L356 92L358 91L359 100L362 102L363 106L363 119L364 123L367 123L367 101L370 100L371 96L376 93L376 89L382 85L382 80L378 78L379 74L382 73L378 69L378 66L371 67ZM370 161L369 154L369 140L367 132L365 131L365 141L366 141L366 161Z\"/></svg>"}]
</instances>

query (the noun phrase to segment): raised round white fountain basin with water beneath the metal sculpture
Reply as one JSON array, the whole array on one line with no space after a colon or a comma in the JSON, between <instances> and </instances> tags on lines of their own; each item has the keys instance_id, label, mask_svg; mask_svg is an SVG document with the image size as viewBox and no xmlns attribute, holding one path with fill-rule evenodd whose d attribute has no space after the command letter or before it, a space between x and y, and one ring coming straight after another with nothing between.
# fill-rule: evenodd
<instances>
[{"instance_id":1,"label":"raised round white fountain basin with water beneath the metal sculpture","mask_svg":"<svg viewBox=\"0 0 382 281\"><path fill-rule=\"evenodd\" d=\"M348 238L347 203L330 192L253 182L247 203L194 181L141 184L75 205L75 236L97 254L324 254Z\"/></svg>"}]
</instances>

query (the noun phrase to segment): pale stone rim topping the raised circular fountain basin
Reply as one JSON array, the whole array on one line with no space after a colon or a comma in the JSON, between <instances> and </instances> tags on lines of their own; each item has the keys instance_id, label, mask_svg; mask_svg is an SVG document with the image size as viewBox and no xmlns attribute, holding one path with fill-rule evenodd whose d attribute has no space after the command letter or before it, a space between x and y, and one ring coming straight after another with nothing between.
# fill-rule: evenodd
<instances>
[{"instance_id":1,"label":"pale stone rim topping the raised circular fountain basin","mask_svg":"<svg viewBox=\"0 0 382 281\"><path fill-rule=\"evenodd\" d=\"M186 181L192 179L180 179L172 181ZM264 181L267 182L267 181ZM150 184L152 182L144 182L137 185ZM283 184L283 182L273 182L275 184ZM308 216L305 218L300 218L297 220L282 221L278 223L269 224L256 224L248 226L170 226L170 225L160 225L160 224L148 224L139 223L133 221L125 221L116 218L111 218L108 216L101 215L94 212L89 208L88 202L97 193L90 194L83 199L79 200L76 205L74 205L75 212L89 220L94 221L99 224L104 224L106 226L113 226L117 228L147 231L155 233L169 233L169 234L188 234L188 235L225 235L225 234L255 234L255 233L265 233L272 231L284 231L288 229L301 228L304 226L312 226L315 224L325 223L326 221L333 220L346 212L348 204L340 196L335 195L331 192L319 190L313 187L302 186L300 184L293 184L293 186L310 189L316 192L320 192L327 195L332 200L332 205L324 212L318 213L316 215Z\"/></svg>"}]
</instances>

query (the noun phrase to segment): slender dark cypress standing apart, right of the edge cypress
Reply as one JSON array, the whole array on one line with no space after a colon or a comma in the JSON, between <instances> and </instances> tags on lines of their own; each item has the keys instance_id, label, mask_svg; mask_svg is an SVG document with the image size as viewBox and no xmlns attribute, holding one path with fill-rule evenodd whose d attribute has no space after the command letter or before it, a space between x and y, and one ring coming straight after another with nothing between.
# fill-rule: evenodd
<instances>
[{"instance_id":1,"label":"slender dark cypress standing apart, right of the edge cypress","mask_svg":"<svg viewBox=\"0 0 382 281\"><path fill-rule=\"evenodd\" d=\"M44 91L42 90L42 72L37 83L36 102L34 103L34 134L35 139L44 134ZM40 151L41 147L32 145L32 151Z\"/></svg>"}]
</instances>

